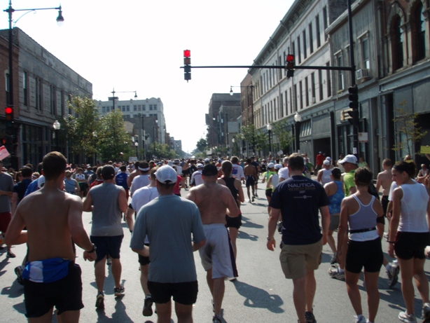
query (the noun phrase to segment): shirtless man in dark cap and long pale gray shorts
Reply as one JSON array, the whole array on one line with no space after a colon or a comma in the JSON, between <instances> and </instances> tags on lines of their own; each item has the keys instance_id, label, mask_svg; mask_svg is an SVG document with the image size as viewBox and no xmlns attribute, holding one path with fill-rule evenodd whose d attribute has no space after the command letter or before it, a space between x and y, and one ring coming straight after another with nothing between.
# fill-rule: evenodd
<instances>
[{"instance_id":1,"label":"shirtless man in dark cap and long pale gray shorts","mask_svg":"<svg viewBox=\"0 0 430 323\"><path fill-rule=\"evenodd\" d=\"M190 188L187 199L195 202L200 210L206 244L199 250L206 279L214 300L212 322L221 323L221 305L224 296L224 279L237 277L233 248L228 240L226 214L240 214L230 190L216 184L218 170L213 164L205 165L202 171L203 184ZM216 197L216 198L215 198Z\"/></svg>"}]
</instances>

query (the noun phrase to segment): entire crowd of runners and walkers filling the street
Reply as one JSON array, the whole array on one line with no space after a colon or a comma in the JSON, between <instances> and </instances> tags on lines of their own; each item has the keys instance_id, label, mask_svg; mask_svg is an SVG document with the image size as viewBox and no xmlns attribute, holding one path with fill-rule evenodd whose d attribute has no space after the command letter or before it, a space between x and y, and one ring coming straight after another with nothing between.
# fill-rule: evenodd
<instances>
[{"instance_id":1,"label":"entire crowd of runners and walkers filling the street","mask_svg":"<svg viewBox=\"0 0 430 323\"><path fill-rule=\"evenodd\" d=\"M85 260L95 261L95 307L104 308L106 264L111 266L115 296L123 295L120 250L122 221L126 221L145 295L142 314L153 315L155 303L158 322L171 322L173 298L178 322L193 322L198 291L193 252L198 251L212 296L212 322L219 323L224 282L237 277L240 206L245 194L253 203L260 186L268 200L267 247L275 250L279 231L279 260L286 279L293 281L299 323L317 322L314 270L326 243L333 252L328 275L345 280L356 322L375 322L382 266L391 288L401 274L406 310L398 319L417 322L413 278L422 298L423 322L430 322L424 272L424 249L430 245L429 170L423 164L417 171L409 156L394 165L385 159L382 167L374 185L369 166L354 155L335 161L320 152L314 164L306 154L293 153L281 158L79 166L67 164L61 153L53 152L37 170L26 165L15 174L0 165L1 240L7 257L16 256L13 245L27 243L27 254L20 255L22 266L15 273L24 285L30 322L51 322L54 307L58 322L78 322L83 303L75 245L84 250ZM46 209L57 209L57 217L50 217ZM92 212L89 235L82 212ZM382 243L388 244L394 261L384 256ZM368 319L357 285L362 270Z\"/></svg>"}]
</instances>

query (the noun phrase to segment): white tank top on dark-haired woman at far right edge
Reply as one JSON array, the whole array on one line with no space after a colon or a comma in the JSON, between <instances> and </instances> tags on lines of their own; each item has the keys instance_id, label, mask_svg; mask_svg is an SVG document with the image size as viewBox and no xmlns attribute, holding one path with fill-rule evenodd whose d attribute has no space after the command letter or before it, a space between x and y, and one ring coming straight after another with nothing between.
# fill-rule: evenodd
<instances>
[{"instance_id":1,"label":"white tank top on dark-haired woman at far right edge","mask_svg":"<svg viewBox=\"0 0 430 323\"><path fill-rule=\"evenodd\" d=\"M403 184L399 186L403 191L401 199L400 222L397 231L429 232L426 212L429 194L422 184Z\"/></svg>"}]
</instances>

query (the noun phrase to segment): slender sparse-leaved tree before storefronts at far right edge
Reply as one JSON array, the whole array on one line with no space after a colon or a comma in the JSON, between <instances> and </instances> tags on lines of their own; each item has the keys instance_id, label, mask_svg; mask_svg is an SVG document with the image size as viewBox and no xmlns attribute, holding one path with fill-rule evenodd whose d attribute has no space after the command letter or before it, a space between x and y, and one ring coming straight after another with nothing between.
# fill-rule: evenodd
<instances>
[{"instance_id":1,"label":"slender sparse-leaved tree before storefronts at far right edge","mask_svg":"<svg viewBox=\"0 0 430 323\"><path fill-rule=\"evenodd\" d=\"M396 133L398 133L398 141L393 146L394 151L400 151L403 155L412 155L412 145L424 137L427 132L422 131L418 127L415 119L418 114L407 114L407 102L401 101L399 107L396 108L396 118L393 119Z\"/></svg>"}]
</instances>

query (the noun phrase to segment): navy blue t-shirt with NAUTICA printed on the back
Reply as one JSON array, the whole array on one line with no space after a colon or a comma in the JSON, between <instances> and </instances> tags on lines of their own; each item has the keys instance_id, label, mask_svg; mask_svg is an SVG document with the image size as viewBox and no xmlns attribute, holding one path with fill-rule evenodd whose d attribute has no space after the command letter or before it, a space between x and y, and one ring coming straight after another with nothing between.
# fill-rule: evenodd
<instances>
[{"instance_id":1,"label":"navy blue t-shirt with NAUTICA printed on the back","mask_svg":"<svg viewBox=\"0 0 430 323\"><path fill-rule=\"evenodd\" d=\"M286 245L311 245L322 238L319 207L329 204L326 191L318 181L293 176L279 183L270 207L281 209L282 242Z\"/></svg>"}]
</instances>

